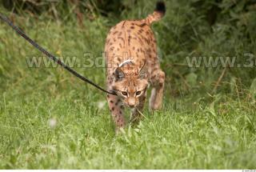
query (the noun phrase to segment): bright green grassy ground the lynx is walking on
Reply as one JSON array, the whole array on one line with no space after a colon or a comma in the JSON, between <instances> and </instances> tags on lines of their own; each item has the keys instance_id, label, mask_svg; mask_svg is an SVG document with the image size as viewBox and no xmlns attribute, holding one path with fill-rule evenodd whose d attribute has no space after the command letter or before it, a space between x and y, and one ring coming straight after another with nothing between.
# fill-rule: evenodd
<instances>
[{"instance_id":1,"label":"bright green grassy ground the lynx is walking on","mask_svg":"<svg viewBox=\"0 0 256 172\"><path fill-rule=\"evenodd\" d=\"M16 21L50 52L78 58L88 50L101 55L111 25L104 18L83 29L72 21ZM59 67L29 68L26 57L42 54L3 24L0 40L1 169L256 167L256 106L246 91L211 96L198 86L174 97L164 69L163 109L150 114L146 106L138 127L116 135L104 94ZM104 68L76 70L104 86Z\"/></svg>"}]
</instances>

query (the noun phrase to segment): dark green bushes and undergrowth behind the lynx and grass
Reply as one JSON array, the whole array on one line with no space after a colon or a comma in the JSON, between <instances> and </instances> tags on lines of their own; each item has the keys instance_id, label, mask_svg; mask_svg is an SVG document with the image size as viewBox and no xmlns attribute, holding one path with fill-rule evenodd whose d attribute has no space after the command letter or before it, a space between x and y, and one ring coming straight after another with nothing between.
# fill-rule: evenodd
<instances>
[{"instance_id":1,"label":"dark green bushes and undergrowth behind the lynx and grass","mask_svg":"<svg viewBox=\"0 0 256 172\"><path fill-rule=\"evenodd\" d=\"M85 20L106 18L106 27L110 28L122 19L146 17L153 4L154 1L137 0L2 1L2 6L15 15L44 16L54 22L75 20L76 26L85 30ZM255 54L256 50L256 1L166 1L166 7L166 17L154 25L154 31L170 94L222 91L237 95L254 87L255 67L188 68L186 56L235 56L237 62L245 63L244 54Z\"/></svg>"}]
</instances>

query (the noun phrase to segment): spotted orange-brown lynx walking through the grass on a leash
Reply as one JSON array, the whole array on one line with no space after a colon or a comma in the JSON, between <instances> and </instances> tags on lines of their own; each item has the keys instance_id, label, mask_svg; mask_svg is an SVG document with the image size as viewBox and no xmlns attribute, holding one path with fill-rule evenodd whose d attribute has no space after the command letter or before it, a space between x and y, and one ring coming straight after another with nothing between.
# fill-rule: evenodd
<instances>
[{"instance_id":1,"label":"spotted orange-brown lynx walking through the grass on a leash","mask_svg":"<svg viewBox=\"0 0 256 172\"><path fill-rule=\"evenodd\" d=\"M162 106L165 73L160 69L157 44L150 29L152 22L160 20L166 12L164 2L158 2L153 14L142 20L125 20L110 29L106 38L105 58L107 94L116 130L125 126L124 106L132 110L132 122L141 118L146 90L153 86L150 109Z\"/></svg>"}]
</instances>

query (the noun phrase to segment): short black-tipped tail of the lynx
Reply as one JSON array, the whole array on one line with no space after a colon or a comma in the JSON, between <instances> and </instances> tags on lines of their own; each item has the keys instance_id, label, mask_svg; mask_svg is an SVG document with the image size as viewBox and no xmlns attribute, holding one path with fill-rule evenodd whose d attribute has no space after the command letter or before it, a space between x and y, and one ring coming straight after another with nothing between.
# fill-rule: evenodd
<instances>
[{"instance_id":1,"label":"short black-tipped tail of the lynx","mask_svg":"<svg viewBox=\"0 0 256 172\"><path fill-rule=\"evenodd\" d=\"M148 15L144 20L147 25L150 25L152 22L158 22L166 14L166 5L164 2L157 2L157 5L154 9L154 13Z\"/></svg>"}]
</instances>

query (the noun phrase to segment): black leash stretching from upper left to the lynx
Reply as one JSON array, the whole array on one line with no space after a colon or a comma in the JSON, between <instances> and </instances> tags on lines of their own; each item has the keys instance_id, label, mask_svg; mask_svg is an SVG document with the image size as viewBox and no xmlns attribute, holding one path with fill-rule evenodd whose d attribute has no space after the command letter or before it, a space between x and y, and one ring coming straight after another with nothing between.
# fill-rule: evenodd
<instances>
[{"instance_id":1,"label":"black leash stretching from upper left to the lynx","mask_svg":"<svg viewBox=\"0 0 256 172\"><path fill-rule=\"evenodd\" d=\"M11 26L19 35L21 35L23 38L26 39L27 42L30 42L32 46L34 46L36 49L40 50L43 54L46 54L46 56L50 59L52 59L54 62L57 62L58 65L62 66L64 69L68 70L71 74L74 74L74 76L82 79L82 81L90 83L90 85L95 86L98 88L98 90L102 90L103 92L107 94L117 95L114 92L107 91L103 89L102 87L98 86L94 82L91 82L89 79L83 77L81 74L78 74L75 70L72 70L69 66L67 66L64 62L62 62L60 59L54 57L54 55L50 54L48 51L42 48L42 46L39 46L37 42L34 42L31 38L29 38L22 30L18 28L18 26L14 26L14 23L10 21L9 18L6 18L3 14L0 13L0 18L3 22L6 22L9 26Z\"/></svg>"}]
</instances>

